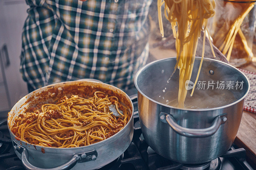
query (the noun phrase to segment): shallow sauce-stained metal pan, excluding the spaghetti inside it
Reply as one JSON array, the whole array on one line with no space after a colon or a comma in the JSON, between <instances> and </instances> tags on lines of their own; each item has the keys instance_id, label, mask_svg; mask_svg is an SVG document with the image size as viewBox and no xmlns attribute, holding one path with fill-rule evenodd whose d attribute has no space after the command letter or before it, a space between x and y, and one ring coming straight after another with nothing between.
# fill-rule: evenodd
<instances>
[{"instance_id":1,"label":"shallow sauce-stained metal pan, excluding the spaghetti inside it","mask_svg":"<svg viewBox=\"0 0 256 170\"><path fill-rule=\"evenodd\" d=\"M112 91L129 108L131 119L118 133L101 142L76 148L52 148L33 145L15 138L10 127L15 118L30 105L51 99L51 94L83 92L85 87ZM97 169L118 158L128 148L133 136L133 105L131 99L120 89L95 81L61 82L42 87L20 99L8 115L8 128L15 153L27 169Z\"/></svg>"}]
</instances>

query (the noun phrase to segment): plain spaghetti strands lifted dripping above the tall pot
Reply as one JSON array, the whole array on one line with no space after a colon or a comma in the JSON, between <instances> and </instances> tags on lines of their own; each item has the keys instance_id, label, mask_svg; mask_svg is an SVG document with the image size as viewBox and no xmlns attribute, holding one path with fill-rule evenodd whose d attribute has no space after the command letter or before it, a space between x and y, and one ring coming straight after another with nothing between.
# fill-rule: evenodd
<instances>
[{"instance_id":1,"label":"plain spaghetti strands lifted dripping above the tall pot","mask_svg":"<svg viewBox=\"0 0 256 170\"><path fill-rule=\"evenodd\" d=\"M175 47L177 51L176 65L173 73L178 68L180 70L179 79L179 94L178 94L178 107L184 107L184 101L187 95L187 89L185 88L186 80L190 80L193 64L195 61L196 47L198 38L201 35L201 31L204 31L204 37L207 31L207 19L215 14L215 1L214 0L158 0L158 20L160 33L164 36L161 7L164 4L164 16L168 19L172 26L173 36L175 38ZM176 31L176 27L178 30ZM209 33L208 33L209 36ZM210 36L209 36L210 41ZM204 42L205 43L205 38ZM210 41L213 56L215 54L212 48L212 42ZM192 49L192 50L191 50ZM204 44L203 44L204 54ZM201 64L198 69L196 81L199 76L199 72L202 66L203 55ZM173 75L172 73L172 75ZM171 75L171 77L172 77ZM195 81L195 85L196 85ZM193 87L193 91L195 88ZM191 93L191 95L193 92Z\"/></svg>"}]
</instances>

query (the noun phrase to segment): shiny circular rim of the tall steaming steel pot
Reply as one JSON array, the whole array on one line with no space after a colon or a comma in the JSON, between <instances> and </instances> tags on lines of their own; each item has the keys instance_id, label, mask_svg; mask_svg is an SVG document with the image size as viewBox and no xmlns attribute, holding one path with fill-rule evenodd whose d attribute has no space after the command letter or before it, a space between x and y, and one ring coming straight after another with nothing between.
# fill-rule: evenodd
<instances>
[{"instance_id":1,"label":"shiny circular rim of the tall steaming steel pot","mask_svg":"<svg viewBox=\"0 0 256 170\"><path fill-rule=\"evenodd\" d=\"M232 66L232 65L230 65L230 64L228 64L228 63L225 63L225 62L222 62L222 61L219 61L219 60L215 60L215 59L211 59L211 58L204 58L204 60L212 60L213 62L219 62L219 63L225 64L225 65L227 65L228 67L232 67L233 69L235 69L235 70L237 70L238 72L240 72L240 73L246 78L247 83L248 83L248 89L247 89L247 92L244 94L244 96L241 97L240 99L236 100L235 102L228 104L228 105L221 106L221 107L214 107L214 108L205 108L205 109L186 109L186 108L173 107L173 106L169 106L169 105L160 103L160 102L158 102L158 101L156 101L156 100L151 99L150 97L148 97L147 95L145 95L143 92L141 92L141 90L139 89L138 84L137 84L138 75L140 74L140 72L141 72L142 70L145 70L145 68L149 67L150 65L152 65L152 64L154 64L154 63L157 63L157 62L159 62L159 61L162 61L162 60L168 60L168 59L172 59L172 58L176 58L176 57L164 58L164 59L160 59L160 60L156 60L156 61L153 61L153 62L151 62L151 63L148 63L148 64L146 64L145 66L143 66L142 68L140 68L140 70L139 70L139 71L136 73L136 75L135 75L134 84L135 84L135 87L136 87L136 89L138 90L138 92L140 92L144 97L146 97L148 100L153 101L153 102L156 103L156 104L159 104L159 105L162 105L162 106L165 106L165 107L169 107L169 108L172 108L172 109L185 110L185 111L195 111L195 112L198 112L198 111L211 111L211 110L223 109L223 108L232 106L232 105L234 105L234 104L240 102L241 100L243 100L243 99L247 96L247 94L248 94L249 91L250 91L250 82L249 82L249 79L245 76L245 74L244 74L242 71L238 70L236 67L234 67L234 66ZM196 57L196 58L200 58L200 59L201 59L201 57Z\"/></svg>"}]
</instances>

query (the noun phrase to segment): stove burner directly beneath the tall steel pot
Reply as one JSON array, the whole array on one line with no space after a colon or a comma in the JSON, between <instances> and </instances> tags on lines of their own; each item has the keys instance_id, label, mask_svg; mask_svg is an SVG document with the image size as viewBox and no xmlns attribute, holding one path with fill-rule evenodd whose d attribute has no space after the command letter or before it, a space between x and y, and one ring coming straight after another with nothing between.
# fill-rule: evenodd
<instances>
[{"instance_id":1,"label":"stove burner directly beneath the tall steel pot","mask_svg":"<svg viewBox=\"0 0 256 170\"><path fill-rule=\"evenodd\" d=\"M180 169L182 170L220 170L220 158L214 159L210 162L202 164L184 164Z\"/></svg>"}]
</instances>

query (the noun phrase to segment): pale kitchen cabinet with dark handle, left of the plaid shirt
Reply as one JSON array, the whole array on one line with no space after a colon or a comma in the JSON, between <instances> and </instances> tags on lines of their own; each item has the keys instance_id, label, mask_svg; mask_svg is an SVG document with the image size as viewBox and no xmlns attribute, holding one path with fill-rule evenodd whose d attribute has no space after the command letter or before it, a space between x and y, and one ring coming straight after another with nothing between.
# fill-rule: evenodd
<instances>
[{"instance_id":1,"label":"pale kitchen cabinet with dark handle, left of the plaid shirt","mask_svg":"<svg viewBox=\"0 0 256 170\"><path fill-rule=\"evenodd\" d=\"M28 93L19 72L21 32L28 16L27 9L25 0L0 0L0 70L4 71L4 76L0 72L0 112L10 110Z\"/></svg>"}]
</instances>

